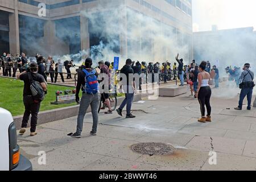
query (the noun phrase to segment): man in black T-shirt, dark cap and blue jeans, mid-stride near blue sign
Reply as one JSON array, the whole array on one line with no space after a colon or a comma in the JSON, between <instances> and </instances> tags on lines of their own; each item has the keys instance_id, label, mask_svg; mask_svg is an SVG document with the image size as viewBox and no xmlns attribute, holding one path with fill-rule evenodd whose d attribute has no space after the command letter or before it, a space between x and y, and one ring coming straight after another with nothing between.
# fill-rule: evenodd
<instances>
[{"instance_id":1,"label":"man in black T-shirt, dark cap and blue jeans, mid-stride near blue sign","mask_svg":"<svg viewBox=\"0 0 256 182\"><path fill-rule=\"evenodd\" d=\"M125 66L121 69L120 81L123 81L122 76L126 76L126 82L122 82L122 87L125 92L125 100L123 100L122 104L117 109L117 113L122 116L122 110L126 105L126 118L135 118L135 115L131 114L131 105L133 103L133 97L135 92L135 81L134 81L134 72L131 68L131 59L126 60Z\"/></svg>"}]
</instances>

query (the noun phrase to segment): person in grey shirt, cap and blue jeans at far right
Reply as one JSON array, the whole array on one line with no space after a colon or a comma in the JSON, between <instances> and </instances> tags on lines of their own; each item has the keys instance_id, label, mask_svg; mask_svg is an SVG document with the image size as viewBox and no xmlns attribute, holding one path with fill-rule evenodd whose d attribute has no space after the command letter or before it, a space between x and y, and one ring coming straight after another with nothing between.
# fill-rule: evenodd
<instances>
[{"instance_id":1,"label":"person in grey shirt, cap and blue jeans at far right","mask_svg":"<svg viewBox=\"0 0 256 182\"><path fill-rule=\"evenodd\" d=\"M253 88L255 86L254 82L254 73L250 71L250 64L246 63L243 67L243 72L240 76L240 100L238 107L235 107L236 110L242 110L243 100L247 96L247 110L251 110L251 98L253 96Z\"/></svg>"}]
</instances>

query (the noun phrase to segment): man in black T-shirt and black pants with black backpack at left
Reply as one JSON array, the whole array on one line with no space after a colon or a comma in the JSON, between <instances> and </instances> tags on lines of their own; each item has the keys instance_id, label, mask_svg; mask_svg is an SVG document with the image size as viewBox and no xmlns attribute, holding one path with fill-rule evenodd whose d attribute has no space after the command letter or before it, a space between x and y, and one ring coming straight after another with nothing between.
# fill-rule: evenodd
<instances>
[{"instance_id":1,"label":"man in black T-shirt and black pants with black backpack at left","mask_svg":"<svg viewBox=\"0 0 256 182\"><path fill-rule=\"evenodd\" d=\"M31 63L30 65L30 73L24 71L18 75L18 79L24 81L24 89L23 89L23 103L25 106L25 112L22 119L22 129L19 131L20 134L24 134L26 132L26 127L28 123L28 119L31 114L31 128L30 128L30 136L35 136L36 133L36 125L38 122L38 113L40 109L40 101L36 101L32 97L32 93L30 90L30 80L28 79L28 74L31 74L32 80L38 81L42 86L43 90L47 92L46 81L44 77L38 74L38 64Z\"/></svg>"}]
</instances>

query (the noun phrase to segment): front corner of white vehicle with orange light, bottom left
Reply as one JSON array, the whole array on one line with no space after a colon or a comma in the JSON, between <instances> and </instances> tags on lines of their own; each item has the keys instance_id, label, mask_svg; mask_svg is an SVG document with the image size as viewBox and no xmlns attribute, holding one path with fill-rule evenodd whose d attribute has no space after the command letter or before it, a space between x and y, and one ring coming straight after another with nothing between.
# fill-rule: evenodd
<instances>
[{"instance_id":1,"label":"front corner of white vehicle with orange light, bottom left","mask_svg":"<svg viewBox=\"0 0 256 182\"><path fill-rule=\"evenodd\" d=\"M0 171L31 171L31 162L19 153L11 113L0 108Z\"/></svg>"}]
</instances>

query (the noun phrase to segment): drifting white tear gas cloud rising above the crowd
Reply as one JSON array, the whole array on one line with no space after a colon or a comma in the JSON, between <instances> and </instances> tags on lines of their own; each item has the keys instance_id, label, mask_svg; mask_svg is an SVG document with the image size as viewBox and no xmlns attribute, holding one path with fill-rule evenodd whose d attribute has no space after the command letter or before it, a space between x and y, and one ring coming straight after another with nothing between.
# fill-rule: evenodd
<instances>
[{"instance_id":1,"label":"drifting white tear gas cloud rising above the crowd","mask_svg":"<svg viewBox=\"0 0 256 182\"><path fill-rule=\"evenodd\" d=\"M134 61L146 61L147 63L164 62L166 60L173 63L176 54L179 52L185 63L191 62L191 60L188 60L187 33L183 33L184 39L179 38L181 34L176 35L176 29L173 27L167 26L138 11L131 10L124 5L118 5L113 9L113 6L109 5L112 2L116 3L117 1L108 1L108 6L112 7L112 9L106 8L104 6L105 3L102 1L93 10L94 13L81 11L81 14L89 19L89 34L93 36L93 38L90 38L90 42L91 40L92 42L96 40L94 46L91 45L90 50L64 55L53 52L51 55L53 59L61 59L62 61L73 59L78 64L90 55L94 64L96 64L100 60L112 62L115 56L119 56L121 60L120 66L122 66L127 58ZM24 18L26 17L24 16ZM125 18L127 18L127 24L123 20ZM30 27L34 26L44 27L42 24L30 19ZM71 29L65 29L71 26ZM43 31L42 27L39 28L40 31ZM67 35L73 34L73 31L80 31L80 23L77 25L71 22L63 27L65 28L59 28L57 34L57 37L63 40ZM45 48L49 45L45 42L41 43L43 42L42 39L36 36L26 36L26 42L28 43L26 51L29 56L34 56L36 52L42 53L43 56L49 55ZM69 41L72 42L73 40ZM127 52L123 52L122 48L126 45ZM57 49L57 47L53 47L53 49ZM32 53L29 53L30 50L33 50Z\"/></svg>"}]
</instances>

